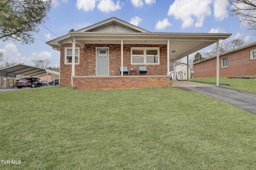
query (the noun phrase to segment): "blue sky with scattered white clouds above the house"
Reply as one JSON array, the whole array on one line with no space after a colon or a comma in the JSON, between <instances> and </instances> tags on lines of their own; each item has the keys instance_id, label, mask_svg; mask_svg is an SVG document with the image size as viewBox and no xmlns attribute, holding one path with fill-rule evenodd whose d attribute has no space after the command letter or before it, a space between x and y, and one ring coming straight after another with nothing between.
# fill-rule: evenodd
<instances>
[{"instance_id":1,"label":"blue sky with scattered white clouds above the house","mask_svg":"<svg viewBox=\"0 0 256 170\"><path fill-rule=\"evenodd\" d=\"M48 20L38 26L40 32L34 34L33 44L0 41L0 51L8 62L34 65L32 60L49 59L50 66L59 66L60 52L47 41L68 34L72 28L76 31L112 17L151 32L232 33L227 40L256 41L254 31L244 29L238 16L228 15L228 8L227 0L52 0Z\"/></svg>"}]
</instances>

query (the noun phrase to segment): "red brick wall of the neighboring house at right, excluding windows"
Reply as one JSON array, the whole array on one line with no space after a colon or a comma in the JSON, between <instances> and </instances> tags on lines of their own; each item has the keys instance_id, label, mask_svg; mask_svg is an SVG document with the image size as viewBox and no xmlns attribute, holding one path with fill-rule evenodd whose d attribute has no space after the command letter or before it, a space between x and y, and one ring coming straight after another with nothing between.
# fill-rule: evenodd
<instances>
[{"instance_id":1,"label":"red brick wall of the neighboring house at right, excluding windows","mask_svg":"<svg viewBox=\"0 0 256 170\"><path fill-rule=\"evenodd\" d=\"M250 50L254 49L256 46L220 56L220 77L255 76L256 59L250 60ZM221 59L224 58L228 58L228 67L221 68ZM194 78L198 77L216 77L216 58L194 64Z\"/></svg>"}]
</instances>

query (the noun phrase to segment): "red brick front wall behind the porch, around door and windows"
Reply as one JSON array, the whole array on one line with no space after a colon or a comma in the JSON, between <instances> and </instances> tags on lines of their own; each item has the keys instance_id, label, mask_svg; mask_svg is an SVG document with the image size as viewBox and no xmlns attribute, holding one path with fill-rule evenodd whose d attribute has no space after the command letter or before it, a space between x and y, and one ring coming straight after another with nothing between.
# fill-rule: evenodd
<instances>
[{"instance_id":1,"label":"red brick front wall behind the porch, around door and windows","mask_svg":"<svg viewBox=\"0 0 256 170\"><path fill-rule=\"evenodd\" d=\"M71 86L71 64L64 64L65 47L72 47L72 44L62 44L60 51L60 85ZM76 47L80 47L76 44ZM96 75L96 47L109 47L109 75L118 76L121 66L121 45L120 44L85 44L85 48L80 47L80 62L76 64L76 76L95 76ZM131 47L159 47L160 64L143 65L147 66L148 75L166 75L167 73L167 46L166 45L129 45L123 46L124 66L130 70L138 70L139 65L130 63ZM138 74L138 71L137 71ZM146 75L146 74L144 74Z\"/></svg>"}]
</instances>

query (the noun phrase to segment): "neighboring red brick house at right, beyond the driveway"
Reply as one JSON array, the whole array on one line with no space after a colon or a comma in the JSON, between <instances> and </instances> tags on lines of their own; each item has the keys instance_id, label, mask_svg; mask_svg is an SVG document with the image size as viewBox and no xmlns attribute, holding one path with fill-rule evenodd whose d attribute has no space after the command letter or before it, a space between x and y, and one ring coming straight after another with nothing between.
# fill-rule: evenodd
<instances>
[{"instance_id":1,"label":"neighboring red brick house at right, beyond the driveway","mask_svg":"<svg viewBox=\"0 0 256 170\"><path fill-rule=\"evenodd\" d=\"M216 56L194 64L194 78L216 77ZM256 42L220 54L219 76L255 76Z\"/></svg>"}]
</instances>

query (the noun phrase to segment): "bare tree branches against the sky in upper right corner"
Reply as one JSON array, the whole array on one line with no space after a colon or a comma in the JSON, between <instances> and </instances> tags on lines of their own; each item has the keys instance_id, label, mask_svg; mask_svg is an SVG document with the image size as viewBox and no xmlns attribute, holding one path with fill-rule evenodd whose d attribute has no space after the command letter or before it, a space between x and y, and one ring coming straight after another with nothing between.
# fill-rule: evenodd
<instances>
[{"instance_id":1,"label":"bare tree branches against the sky in upper right corner","mask_svg":"<svg viewBox=\"0 0 256 170\"><path fill-rule=\"evenodd\" d=\"M240 22L244 23L246 29L256 30L256 0L228 0L232 5L231 15L240 16Z\"/></svg>"}]
</instances>

